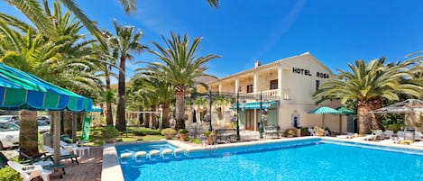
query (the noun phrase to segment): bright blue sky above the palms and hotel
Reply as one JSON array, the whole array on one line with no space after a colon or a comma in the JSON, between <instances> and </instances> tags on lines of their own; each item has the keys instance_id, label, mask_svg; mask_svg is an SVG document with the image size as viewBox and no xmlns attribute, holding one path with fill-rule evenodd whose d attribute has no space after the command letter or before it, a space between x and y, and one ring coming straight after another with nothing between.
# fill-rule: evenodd
<instances>
[{"instance_id":1,"label":"bright blue sky above the palms and hotel","mask_svg":"<svg viewBox=\"0 0 423 181\"><path fill-rule=\"evenodd\" d=\"M76 0L101 29L112 21L143 32L142 42L162 44L170 31L203 37L201 55L212 60L207 73L217 77L309 51L328 68L347 70L355 59L402 60L423 50L423 1L384 0L222 0L211 8L206 0L138 0L136 14L126 15L117 0ZM0 3L0 12L10 7ZM152 61L147 52L136 60ZM128 63L127 70L142 65Z\"/></svg>"}]
</instances>

